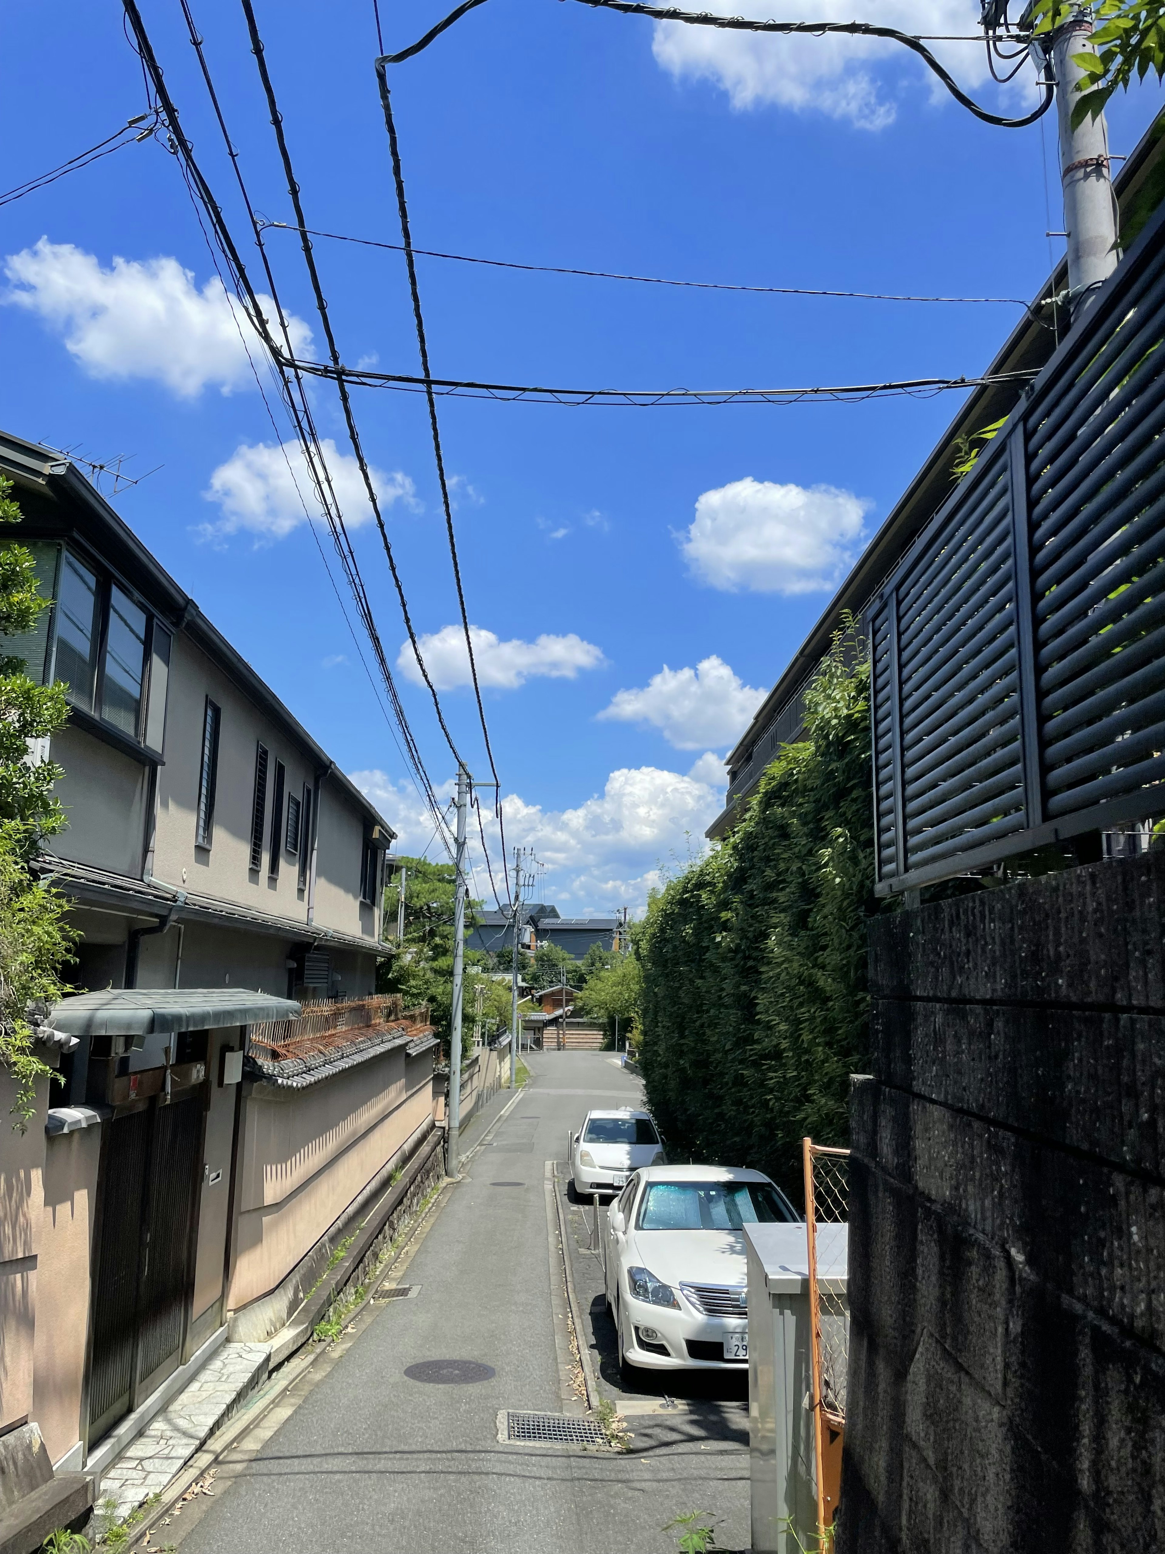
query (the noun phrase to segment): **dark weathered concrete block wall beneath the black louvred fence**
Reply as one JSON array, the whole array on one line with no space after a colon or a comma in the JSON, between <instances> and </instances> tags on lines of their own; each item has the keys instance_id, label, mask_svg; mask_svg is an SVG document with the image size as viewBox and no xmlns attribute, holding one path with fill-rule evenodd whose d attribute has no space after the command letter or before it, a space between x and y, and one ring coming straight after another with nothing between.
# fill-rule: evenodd
<instances>
[{"instance_id":1,"label":"dark weathered concrete block wall beneath the black louvred fence","mask_svg":"<svg viewBox=\"0 0 1165 1554\"><path fill-rule=\"evenodd\" d=\"M1165 852L875 918L840 1554L1165 1548Z\"/></svg>"}]
</instances>

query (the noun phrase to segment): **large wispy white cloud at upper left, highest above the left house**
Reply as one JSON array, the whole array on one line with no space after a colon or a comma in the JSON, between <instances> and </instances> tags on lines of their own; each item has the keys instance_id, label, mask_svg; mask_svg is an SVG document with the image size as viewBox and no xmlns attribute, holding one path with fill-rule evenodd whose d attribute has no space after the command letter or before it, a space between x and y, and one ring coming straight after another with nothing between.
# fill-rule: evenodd
<instances>
[{"instance_id":1,"label":"large wispy white cloud at upper left, highest above the left house","mask_svg":"<svg viewBox=\"0 0 1165 1554\"><path fill-rule=\"evenodd\" d=\"M59 334L90 378L144 378L182 399L208 384L224 393L255 384L242 340L252 353L259 340L217 277L199 291L174 258L115 258L106 270L92 253L48 238L9 255L5 275L12 289L3 300ZM275 323L270 297L259 305ZM304 354L308 325L289 317L287 329L295 353Z\"/></svg>"}]
</instances>

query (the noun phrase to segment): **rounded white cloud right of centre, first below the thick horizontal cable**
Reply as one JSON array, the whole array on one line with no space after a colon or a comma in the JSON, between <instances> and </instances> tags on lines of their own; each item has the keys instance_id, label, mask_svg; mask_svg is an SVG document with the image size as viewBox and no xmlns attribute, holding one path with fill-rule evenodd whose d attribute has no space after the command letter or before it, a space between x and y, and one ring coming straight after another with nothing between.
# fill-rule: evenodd
<instances>
[{"instance_id":1,"label":"rounded white cloud right of centre, first below the thick horizontal cable","mask_svg":"<svg viewBox=\"0 0 1165 1554\"><path fill-rule=\"evenodd\" d=\"M711 587L816 594L836 587L853 566L871 505L837 486L747 476L699 497L682 549Z\"/></svg>"}]
</instances>

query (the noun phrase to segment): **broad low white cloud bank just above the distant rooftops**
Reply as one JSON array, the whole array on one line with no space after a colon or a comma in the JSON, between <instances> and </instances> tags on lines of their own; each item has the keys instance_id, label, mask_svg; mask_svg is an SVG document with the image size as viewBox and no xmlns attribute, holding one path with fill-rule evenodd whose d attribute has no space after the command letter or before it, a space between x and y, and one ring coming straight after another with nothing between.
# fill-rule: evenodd
<instances>
[{"instance_id":1,"label":"broad low white cloud bank just above the distant rooftops","mask_svg":"<svg viewBox=\"0 0 1165 1554\"><path fill-rule=\"evenodd\" d=\"M353 772L351 779L399 831L401 841L395 844L399 852L419 852L430 841L433 821L409 783L395 783L381 771ZM508 794L506 842L534 848L547 866L539 895L562 915L609 914L617 906L642 911L649 889L704 852L704 831L724 803L724 782L722 763L702 755L687 775L656 766L610 772L603 793L573 810L544 810ZM440 791L443 802L450 788ZM500 889L497 825L485 803L482 811ZM440 842L433 842L429 856L444 856ZM477 894L489 898L475 838L471 856Z\"/></svg>"}]
</instances>

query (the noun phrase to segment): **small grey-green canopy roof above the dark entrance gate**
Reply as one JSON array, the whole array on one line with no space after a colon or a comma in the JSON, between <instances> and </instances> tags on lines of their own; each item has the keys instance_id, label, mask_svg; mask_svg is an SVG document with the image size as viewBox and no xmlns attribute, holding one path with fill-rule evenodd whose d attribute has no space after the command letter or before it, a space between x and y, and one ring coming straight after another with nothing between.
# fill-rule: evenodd
<instances>
[{"instance_id":1,"label":"small grey-green canopy roof above the dark entrance gate","mask_svg":"<svg viewBox=\"0 0 1165 1554\"><path fill-rule=\"evenodd\" d=\"M151 1037L294 1019L298 1013L300 1005L290 998L252 993L245 987L132 987L62 998L48 1023L70 1037Z\"/></svg>"}]
</instances>

